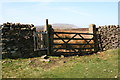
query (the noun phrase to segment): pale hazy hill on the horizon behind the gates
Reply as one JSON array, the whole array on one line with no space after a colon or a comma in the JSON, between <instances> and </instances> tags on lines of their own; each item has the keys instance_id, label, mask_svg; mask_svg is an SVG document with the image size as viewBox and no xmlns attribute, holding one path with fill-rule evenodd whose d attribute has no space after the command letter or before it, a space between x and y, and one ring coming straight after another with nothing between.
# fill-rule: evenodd
<instances>
[{"instance_id":1,"label":"pale hazy hill on the horizon behind the gates","mask_svg":"<svg viewBox=\"0 0 120 80\"><path fill-rule=\"evenodd\" d=\"M73 24L51 24L54 29L73 29L78 28L77 26ZM37 30L43 30L44 26L35 26Z\"/></svg>"}]
</instances>

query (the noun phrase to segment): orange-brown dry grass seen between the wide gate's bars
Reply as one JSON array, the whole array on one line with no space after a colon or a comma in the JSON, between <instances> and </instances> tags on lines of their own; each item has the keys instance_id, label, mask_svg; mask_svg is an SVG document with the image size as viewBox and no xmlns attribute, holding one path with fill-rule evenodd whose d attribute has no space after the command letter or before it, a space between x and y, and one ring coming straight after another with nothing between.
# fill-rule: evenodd
<instances>
[{"instance_id":1,"label":"orange-brown dry grass seen between the wide gate's bars","mask_svg":"<svg viewBox=\"0 0 120 80\"><path fill-rule=\"evenodd\" d=\"M78 30L55 30L55 32L76 32L76 33L88 33L89 31L78 31ZM58 34L59 37L61 38L72 38L75 34ZM91 35L81 35L84 38L92 38ZM58 38L56 35L54 35L55 38ZM74 38L81 38L79 35L77 35ZM64 40L65 42L67 42L68 40ZM64 43L62 40L54 40L54 43ZM87 42L85 40L70 40L68 43L74 43L74 44L87 44ZM94 41L91 40L89 43L93 44ZM58 51L62 51L62 52L74 52L73 50L68 50L69 47L71 48L91 48L94 47L93 45L70 45L70 46L66 46L66 45L57 45L55 46L55 48L66 48L66 49L62 49L62 50L58 50ZM80 49L76 49L76 51L94 51L94 49L84 49L84 50L80 50Z\"/></svg>"}]
</instances>

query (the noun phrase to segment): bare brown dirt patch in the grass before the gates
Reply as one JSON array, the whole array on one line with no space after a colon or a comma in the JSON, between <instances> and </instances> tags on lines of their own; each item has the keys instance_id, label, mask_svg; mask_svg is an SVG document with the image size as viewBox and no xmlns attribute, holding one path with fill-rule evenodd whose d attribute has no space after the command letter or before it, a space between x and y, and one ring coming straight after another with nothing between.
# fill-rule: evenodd
<instances>
[{"instance_id":1,"label":"bare brown dirt patch in the grass before the gates","mask_svg":"<svg viewBox=\"0 0 120 80\"><path fill-rule=\"evenodd\" d=\"M49 62L43 62L40 59L31 59L32 67L42 67L43 69L53 69L55 67L60 67L67 63L68 61L72 60L72 57L64 57L64 58L49 58Z\"/></svg>"}]
</instances>

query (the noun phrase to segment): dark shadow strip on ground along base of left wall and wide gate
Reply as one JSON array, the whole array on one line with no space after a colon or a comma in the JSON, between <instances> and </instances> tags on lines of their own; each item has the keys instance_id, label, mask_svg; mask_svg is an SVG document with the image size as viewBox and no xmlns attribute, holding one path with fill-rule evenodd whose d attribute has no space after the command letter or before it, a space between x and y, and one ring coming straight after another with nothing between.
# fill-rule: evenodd
<instances>
[{"instance_id":1,"label":"dark shadow strip on ground along base of left wall and wide gate","mask_svg":"<svg viewBox=\"0 0 120 80\"><path fill-rule=\"evenodd\" d=\"M27 58L35 58L35 57L41 57L43 55L46 55L47 51L46 50L39 50L39 51L35 51L34 53L16 53L16 54L12 54L12 53L6 53L6 54L2 54L2 59L27 59ZM53 56L53 57L70 57L70 56L85 56L85 55L93 55L96 53L79 53L79 54L51 54L48 56Z\"/></svg>"}]
</instances>

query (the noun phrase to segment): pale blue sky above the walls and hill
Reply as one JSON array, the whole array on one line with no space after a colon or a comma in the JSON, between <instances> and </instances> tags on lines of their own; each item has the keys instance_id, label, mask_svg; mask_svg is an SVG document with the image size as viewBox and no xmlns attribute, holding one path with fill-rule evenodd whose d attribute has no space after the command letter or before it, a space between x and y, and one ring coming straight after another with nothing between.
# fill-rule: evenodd
<instances>
[{"instance_id":1,"label":"pale blue sky above the walls and hill","mask_svg":"<svg viewBox=\"0 0 120 80\"><path fill-rule=\"evenodd\" d=\"M0 23L44 25L48 19L49 24L74 24L78 27L118 24L118 2L13 1L0 6Z\"/></svg>"}]
</instances>

